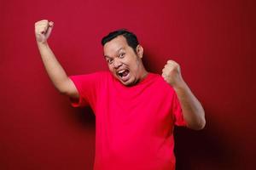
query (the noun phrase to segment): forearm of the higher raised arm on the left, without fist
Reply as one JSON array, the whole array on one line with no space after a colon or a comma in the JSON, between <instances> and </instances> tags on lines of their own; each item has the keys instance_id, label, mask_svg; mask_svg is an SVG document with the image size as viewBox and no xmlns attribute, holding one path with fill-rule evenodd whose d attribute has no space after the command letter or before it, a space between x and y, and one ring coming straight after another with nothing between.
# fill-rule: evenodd
<instances>
[{"instance_id":1,"label":"forearm of the higher raised arm on the left, without fist","mask_svg":"<svg viewBox=\"0 0 256 170\"><path fill-rule=\"evenodd\" d=\"M65 86L68 81L68 77L59 61L56 59L55 54L49 48L47 42L37 42L39 53L44 63L45 70L49 75L51 82L55 85L61 93L65 93Z\"/></svg>"}]
</instances>

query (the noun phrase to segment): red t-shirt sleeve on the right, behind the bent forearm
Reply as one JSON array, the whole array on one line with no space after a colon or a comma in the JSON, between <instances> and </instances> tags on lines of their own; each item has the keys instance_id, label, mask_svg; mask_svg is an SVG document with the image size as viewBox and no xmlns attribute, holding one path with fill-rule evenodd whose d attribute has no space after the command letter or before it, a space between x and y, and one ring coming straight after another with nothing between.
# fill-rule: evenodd
<instances>
[{"instance_id":1,"label":"red t-shirt sleeve on the right, behind the bent forearm","mask_svg":"<svg viewBox=\"0 0 256 170\"><path fill-rule=\"evenodd\" d=\"M174 92L173 99L172 99L172 113L174 124L177 126L186 126L186 122L183 118L183 111L182 107L177 99L177 94Z\"/></svg>"}]
</instances>

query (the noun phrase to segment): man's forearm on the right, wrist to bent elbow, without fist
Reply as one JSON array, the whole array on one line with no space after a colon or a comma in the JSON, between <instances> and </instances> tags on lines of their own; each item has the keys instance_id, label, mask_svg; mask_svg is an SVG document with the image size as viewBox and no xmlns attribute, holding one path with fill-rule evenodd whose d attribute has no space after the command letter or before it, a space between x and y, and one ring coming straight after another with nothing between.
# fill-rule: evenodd
<instances>
[{"instance_id":1,"label":"man's forearm on the right, wrist to bent elbow, without fist","mask_svg":"<svg viewBox=\"0 0 256 170\"><path fill-rule=\"evenodd\" d=\"M198 99L183 80L173 87L183 110L183 117L189 128L200 130L205 127L205 111Z\"/></svg>"}]
</instances>

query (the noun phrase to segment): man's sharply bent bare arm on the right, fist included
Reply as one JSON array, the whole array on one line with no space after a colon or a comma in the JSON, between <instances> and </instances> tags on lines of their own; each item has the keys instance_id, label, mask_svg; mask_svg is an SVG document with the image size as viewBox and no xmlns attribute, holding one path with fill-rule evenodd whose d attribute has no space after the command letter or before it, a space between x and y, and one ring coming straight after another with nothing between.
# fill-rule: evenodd
<instances>
[{"instance_id":1,"label":"man's sharply bent bare arm on the right, fist included","mask_svg":"<svg viewBox=\"0 0 256 170\"><path fill-rule=\"evenodd\" d=\"M205 111L199 100L195 98L195 95L189 89L189 86L183 81L180 66L175 61L168 60L163 69L162 77L176 91L187 126L195 130L205 127Z\"/></svg>"}]
</instances>

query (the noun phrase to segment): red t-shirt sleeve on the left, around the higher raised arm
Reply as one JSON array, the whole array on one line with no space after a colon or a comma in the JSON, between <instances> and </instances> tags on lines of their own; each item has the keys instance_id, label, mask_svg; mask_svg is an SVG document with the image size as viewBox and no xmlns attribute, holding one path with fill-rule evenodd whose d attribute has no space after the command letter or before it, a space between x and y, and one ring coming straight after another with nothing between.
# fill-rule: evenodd
<instances>
[{"instance_id":1,"label":"red t-shirt sleeve on the left, around the higher raised arm","mask_svg":"<svg viewBox=\"0 0 256 170\"><path fill-rule=\"evenodd\" d=\"M87 75L70 76L70 79L79 91L79 99L70 99L73 107L90 105L93 108L95 106L100 77L101 73L99 72Z\"/></svg>"}]
</instances>

